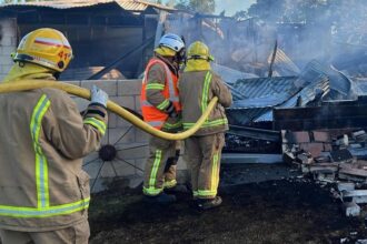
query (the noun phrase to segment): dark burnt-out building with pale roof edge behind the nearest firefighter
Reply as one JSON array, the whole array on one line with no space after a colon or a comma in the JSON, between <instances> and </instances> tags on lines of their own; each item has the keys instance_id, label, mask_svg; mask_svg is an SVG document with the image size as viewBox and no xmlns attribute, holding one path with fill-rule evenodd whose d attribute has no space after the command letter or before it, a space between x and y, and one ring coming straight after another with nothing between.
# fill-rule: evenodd
<instances>
[{"instance_id":1,"label":"dark burnt-out building with pale roof edge behind the nearest firefighter","mask_svg":"<svg viewBox=\"0 0 367 244\"><path fill-rule=\"evenodd\" d=\"M10 69L6 58L16 50L20 38L41 27L62 31L73 47L75 59L62 80L138 78L151 57L159 16L171 11L161 4L133 0L3 4L0 79Z\"/></svg>"}]
</instances>

